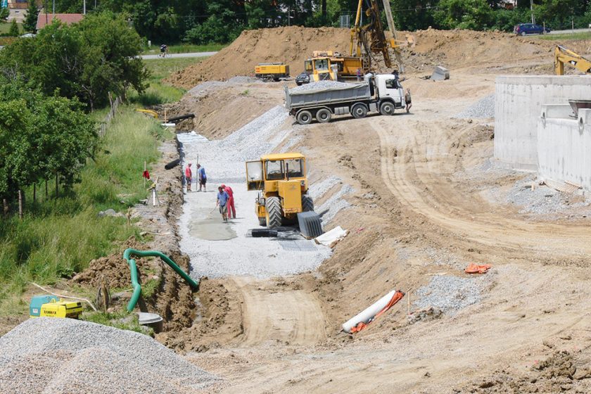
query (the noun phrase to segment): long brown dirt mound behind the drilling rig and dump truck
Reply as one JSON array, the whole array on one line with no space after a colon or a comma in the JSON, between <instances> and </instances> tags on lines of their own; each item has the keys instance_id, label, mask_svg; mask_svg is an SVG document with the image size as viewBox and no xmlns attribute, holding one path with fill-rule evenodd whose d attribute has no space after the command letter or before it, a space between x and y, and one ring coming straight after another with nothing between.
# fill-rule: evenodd
<instances>
[{"instance_id":1,"label":"long brown dirt mound behind the drilling rig and dump truck","mask_svg":"<svg viewBox=\"0 0 591 394\"><path fill-rule=\"evenodd\" d=\"M502 32L471 30L419 30L412 33L417 45L403 50L408 72L420 72L434 65L449 68L484 66L507 67L507 63L535 58L547 58L552 63L554 43L538 38L516 37ZM231 45L206 61L191 65L168 78L168 82L189 89L199 82L227 80L236 75L253 75L255 65L284 62L292 77L303 71L304 61L312 51L331 49L348 53L350 31L333 27L276 27L245 30ZM386 71L380 56L374 58L375 68ZM237 59L240 59L237 61ZM522 64L521 68L526 68ZM519 71L519 70L518 70Z\"/></svg>"}]
</instances>

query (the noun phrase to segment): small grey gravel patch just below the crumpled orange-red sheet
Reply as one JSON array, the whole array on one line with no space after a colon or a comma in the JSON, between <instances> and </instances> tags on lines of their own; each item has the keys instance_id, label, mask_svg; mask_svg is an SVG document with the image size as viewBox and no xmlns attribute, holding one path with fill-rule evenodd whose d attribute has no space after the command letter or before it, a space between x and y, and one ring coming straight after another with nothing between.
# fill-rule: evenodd
<instances>
[{"instance_id":1,"label":"small grey gravel patch just below the crumpled orange-red sheet","mask_svg":"<svg viewBox=\"0 0 591 394\"><path fill-rule=\"evenodd\" d=\"M447 314L455 314L458 310L481 300L481 293L490 281L490 273L481 277L459 278L442 275L431 278L427 286L419 288L419 298L414 305L419 309L434 307Z\"/></svg>"}]
</instances>

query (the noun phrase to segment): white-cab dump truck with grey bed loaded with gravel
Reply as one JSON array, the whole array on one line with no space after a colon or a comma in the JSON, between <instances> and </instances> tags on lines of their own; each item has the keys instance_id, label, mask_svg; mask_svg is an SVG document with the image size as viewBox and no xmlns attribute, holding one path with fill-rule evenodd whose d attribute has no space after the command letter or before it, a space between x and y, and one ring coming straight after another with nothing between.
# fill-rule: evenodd
<instances>
[{"instance_id":1,"label":"white-cab dump truck with grey bed loaded with gravel","mask_svg":"<svg viewBox=\"0 0 591 394\"><path fill-rule=\"evenodd\" d=\"M300 125L307 125L314 117L318 122L330 122L333 115L351 114L365 117L379 111L393 115L396 108L405 108L405 93L398 77L391 74L372 75L364 82L319 82L319 88L309 84L305 89L285 87L285 107Z\"/></svg>"}]
</instances>

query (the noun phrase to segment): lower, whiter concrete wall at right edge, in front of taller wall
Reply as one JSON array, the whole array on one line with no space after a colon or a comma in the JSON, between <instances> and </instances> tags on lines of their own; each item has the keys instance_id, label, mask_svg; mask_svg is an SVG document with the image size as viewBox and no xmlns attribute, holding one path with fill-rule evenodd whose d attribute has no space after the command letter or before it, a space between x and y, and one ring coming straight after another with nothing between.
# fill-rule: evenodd
<instances>
[{"instance_id":1,"label":"lower, whiter concrete wall at right edge, in front of taller wall","mask_svg":"<svg viewBox=\"0 0 591 394\"><path fill-rule=\"evenodd\" d=\"M568 116L570 106L542 106L542 113L545 116L538 118L539 176L591 190L591 109L579 110L577 119Z\"/></svg>"}]
</instances>

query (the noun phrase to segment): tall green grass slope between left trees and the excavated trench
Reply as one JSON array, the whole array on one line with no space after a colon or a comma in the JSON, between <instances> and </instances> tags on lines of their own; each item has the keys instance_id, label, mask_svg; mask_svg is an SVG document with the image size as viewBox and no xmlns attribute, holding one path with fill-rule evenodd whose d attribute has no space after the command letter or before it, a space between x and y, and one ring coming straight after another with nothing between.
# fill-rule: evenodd
<instances>
[{"instance_id":1,"label":"tall green grass slope between left trees and the excavated trench","mask_svg":"<svg viewBox=\"0 0 591 394\"><path fill-rule=\"evenodd\" d=\"M82 182L59 198L52 182L48 198L39 185L35 202L32 188L25 191L23 220L0 218L0 314L23 306L14 305L11 295L22 294L27 282L55 284L81 272L90 260L113 253L130 236L141 238L127 218L98 217L97 212L125 212L146 198L144 160L160 157L155 141L165 138L170 135L155 120L120 107L94 160L82 170Z\"/></svg>"}]
</instances>

